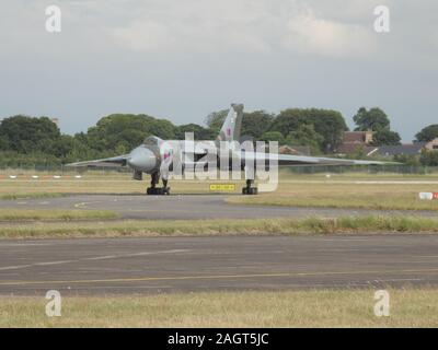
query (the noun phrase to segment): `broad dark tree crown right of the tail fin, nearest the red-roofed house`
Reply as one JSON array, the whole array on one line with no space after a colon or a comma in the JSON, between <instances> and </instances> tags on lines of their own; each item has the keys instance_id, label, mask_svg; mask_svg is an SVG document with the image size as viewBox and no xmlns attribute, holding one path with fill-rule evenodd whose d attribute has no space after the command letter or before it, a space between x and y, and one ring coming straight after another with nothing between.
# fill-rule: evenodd
<instances>
[{"instance_id":1,"label":"broad dark tree crown right of the tail fin, nearest the red-roofed house","mask_svg":"<svg viewBox=\"0 0 438 350\"><path fill-rule=\"evenodd\" d=\"M272 131L279 131L285 137L298 130L301 125L312 125L314 130L322 136L321 149L331 152L336 149L348 130L345 119L339 112L331 109L299 109L281 110L273 121Z\"/></svg>"}]
</instances>

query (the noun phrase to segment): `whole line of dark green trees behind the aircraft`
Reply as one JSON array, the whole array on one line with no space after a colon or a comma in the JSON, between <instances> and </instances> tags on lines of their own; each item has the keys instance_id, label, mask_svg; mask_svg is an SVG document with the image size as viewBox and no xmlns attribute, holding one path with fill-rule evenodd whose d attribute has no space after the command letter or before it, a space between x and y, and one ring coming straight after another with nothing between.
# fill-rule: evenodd
<instances>
[{"instance_id":1,"label":"whole line of dark green trees behind the aircraft","mask_svg":"<svg viewBox=\"0 0 438 350\"><path fill-rule=\"evenodd\" d=\"M146 114L112 114L101 118L87 132L61 133L48 117L16 115L0 124L0 165L59 165L76 161L128 153L147 136L162 139L184 139L194 132L197 140L215 139L228 114L222 109L209 114L205 125L176 126L168 119ZM353 117L355 130L374 132L373 144L400 144L400 136L391 130L388 115L380 108L359 108ZM278 141L279 144L308 145L312 154L333 153L343 141L348 127L337 110L288 108L278 115L266 110L244 113L242 137L253 140ZM416 135L417 142L438 137L438 125ZM427 164L438 165L436 154L422 155ZM435 164L436 162L436 164Z\"/></svg>"}]
</instances>

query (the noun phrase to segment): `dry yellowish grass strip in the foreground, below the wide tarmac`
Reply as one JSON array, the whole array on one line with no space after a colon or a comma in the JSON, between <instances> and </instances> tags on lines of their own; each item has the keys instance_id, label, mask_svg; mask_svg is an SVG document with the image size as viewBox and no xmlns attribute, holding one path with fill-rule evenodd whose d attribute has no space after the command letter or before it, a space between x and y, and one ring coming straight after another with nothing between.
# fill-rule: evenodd
<instances>
[{"instance_id":1,"label":"dry yellowish grass strip in the foreground, below the wide tarmac","mask_svg":"<svg viewBox=\"0 0 438 350\"><path fill-rule=\"evenodd\" d=\"M42 298L1 298L0 327L437 327L438 292L389 290L390 316L373 290L212 292L64 298L47 317Z\"/></svg>"}]
</instances>

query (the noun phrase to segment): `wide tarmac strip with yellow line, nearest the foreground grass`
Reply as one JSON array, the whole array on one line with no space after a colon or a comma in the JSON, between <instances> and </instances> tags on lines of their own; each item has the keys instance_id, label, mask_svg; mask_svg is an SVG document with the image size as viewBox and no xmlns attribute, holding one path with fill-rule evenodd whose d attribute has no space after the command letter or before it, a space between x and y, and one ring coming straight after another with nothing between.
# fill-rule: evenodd
<instances>
[{"instance_id":1,"label":"wide tarmac strip with yellow line, nearest the foreground grass","mask_svg":"<svg viewBox=\"0 0 438 350\"><path fill-rule=\"evenodd\" d=\"M436 235L0 241L0 295L438 285Z\"/></svg>"}]
</instances>

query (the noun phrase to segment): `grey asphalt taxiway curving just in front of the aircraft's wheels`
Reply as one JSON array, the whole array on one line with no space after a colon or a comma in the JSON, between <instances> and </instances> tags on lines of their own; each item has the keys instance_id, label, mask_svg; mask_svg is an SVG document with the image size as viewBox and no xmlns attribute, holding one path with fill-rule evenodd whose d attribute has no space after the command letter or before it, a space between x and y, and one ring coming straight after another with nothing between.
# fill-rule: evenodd
<instances>
[{"instance_id":1,"label":"grey asphalt taxiway curving just in front of the aircraft's wheels","mask_svg":"<svg viewBox=\"0 0 438 350\"><path fill-rule=\"evenodd\" d=\"M60 198L0 200L1 208L18 209L95 209L113 210L124 219L196 220L303 218L369 214L411 214L436 217L434 211L389 211L331 208L295 208L275 206L230 205L229 195L74 195Z\"/></svg>"}]
</instances>

